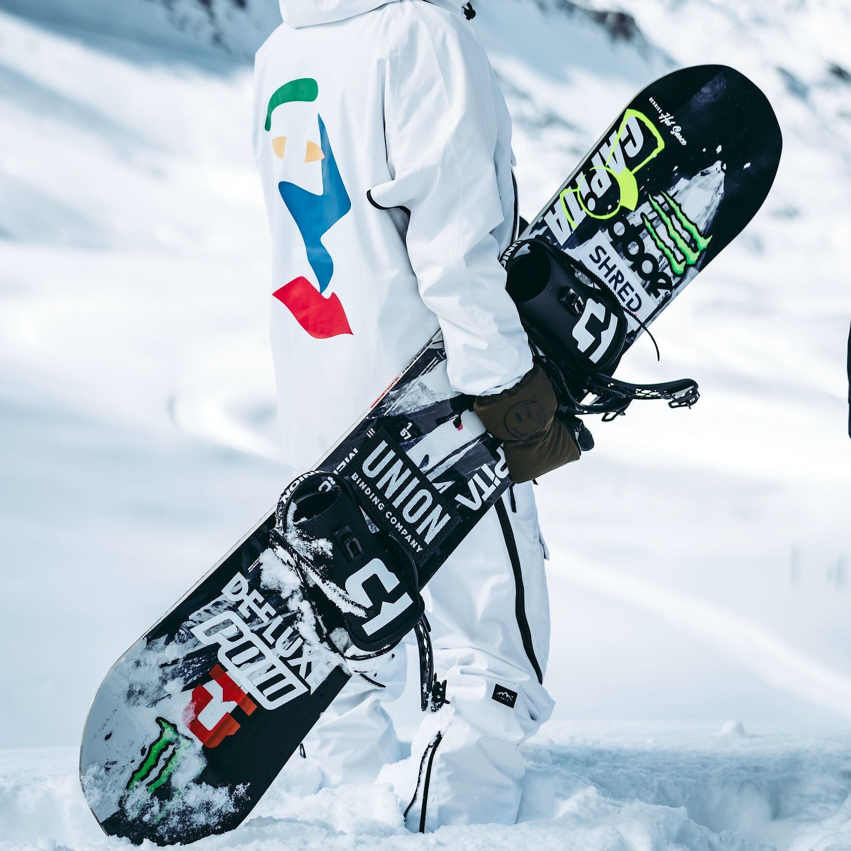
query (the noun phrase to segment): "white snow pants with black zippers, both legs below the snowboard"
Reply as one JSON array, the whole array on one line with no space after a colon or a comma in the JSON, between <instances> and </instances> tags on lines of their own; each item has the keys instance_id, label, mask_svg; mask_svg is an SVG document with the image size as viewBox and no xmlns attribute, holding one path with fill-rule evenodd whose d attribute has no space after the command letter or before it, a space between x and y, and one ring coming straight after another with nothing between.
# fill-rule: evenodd
<instances>
[{"instance_id":1,"label":"white snow pants with black zippers, both legs below the snowboard","mask_svg":"<svg viewBox=\"0 0 851 851\"><path fill-rule=\"evenodd\" d=\"M524 766L517 745L550 717L542 685L550 612L531 484L505 494L426 586L437 678L448 704L426 713L411 745L405 813L412 831L517 820ZM368 783L401 757L381 705L405 684L404 651L353 677L306 740L324 785ZM419 694L408 695L419 700Z\"/></svg>"}]
</instances>

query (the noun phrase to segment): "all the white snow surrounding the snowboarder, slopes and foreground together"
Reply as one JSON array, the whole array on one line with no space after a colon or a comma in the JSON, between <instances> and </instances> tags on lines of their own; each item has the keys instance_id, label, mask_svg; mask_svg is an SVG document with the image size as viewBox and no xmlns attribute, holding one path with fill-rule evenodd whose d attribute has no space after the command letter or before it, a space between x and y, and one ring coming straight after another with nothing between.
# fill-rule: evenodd
<instances>
[{"instance_id":1,"label":"all the white snow surrounding the snowboarder, slopes and foreground together","mask_svg":"<svg viewBox=\"0 0 851 851\"><path fill-rule=\"evenodd\" d=\"M274 5L0 0L2 851L117 847L76 776L89 700L295 472L244 62ZM523 823L409 836L401 767L317 792L295 759L209 848L851 848L851 8L620 8L631 40L602 0L478 3L524 214L677 64L745 72L785 149L752 225L654 326L662 363L647 341L620 368L693 377L700 403L591 422L593 453L538 488L557 710L526 747Z\"/></svg>"}]
</instances>

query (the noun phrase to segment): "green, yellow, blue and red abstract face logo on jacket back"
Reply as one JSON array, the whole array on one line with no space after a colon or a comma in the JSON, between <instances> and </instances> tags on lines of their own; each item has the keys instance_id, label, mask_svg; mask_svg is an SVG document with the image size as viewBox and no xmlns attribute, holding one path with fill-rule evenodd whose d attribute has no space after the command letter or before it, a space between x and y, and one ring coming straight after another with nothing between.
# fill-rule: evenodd
<instances>
[{"instance_id":1,"label":"green, yellow, blue and red abstract face logo on jacket back","mask_svg":"<svg viewBox=\"0 0 851 851\"><path fill-rule=\"evenodd\" d=\"M311 103L317 99L319 86L310 77L291 80L277 89L266 108L266 132L271 131L271 115L279 106L294 101ZM340 177L340 169L328 140L328 131L322 116L317 115L319 141L308 141L306 163L320 163L323 191L310 192L302 186L282 180L278 185L283 203L292 215L301 238L305 242L307 260L316 277L315 286L306 277L295 277L277 289L273 295L293 314L297 322L311 337L326 340L340 334L351 334L349 320L337 294L326 295L334 277L334 260L323 244L323 237L351 210L351 198ZM287 150L287 137L275 136L271 140L275 155L283 160Z\"/></svg>"}]
</instances>

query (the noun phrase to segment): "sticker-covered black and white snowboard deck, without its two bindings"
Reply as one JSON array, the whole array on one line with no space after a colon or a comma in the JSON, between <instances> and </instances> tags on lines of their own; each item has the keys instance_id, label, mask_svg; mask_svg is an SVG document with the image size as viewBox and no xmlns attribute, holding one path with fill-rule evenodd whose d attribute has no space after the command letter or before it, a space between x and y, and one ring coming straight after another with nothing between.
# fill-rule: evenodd
<instances>
[{"instance_id":1,"label":"sticker-covered black and white snowboard deck, without its two bindings","mask_svg":"<svg viewBox=\"0 0 851 851\"><path fill-rule=\"evenodd\" d=\"M619 113L524 236L608 286L629 346L751 220L780 149L774 112L746 77L726 66L674 71ZM585 348L605 344L604 318L581 323ZM511 484L499 444L448 384L439 333L316 471L345 478L419 587ZM108 834L168 844L235 828L352 676L345 613L317 616L298 561L322 542L288 531L303 481L101 684L80 777ZM374 569L349 590L365 616L386 622L407 611L394 582Z\"/></svg>"}]
</instances>

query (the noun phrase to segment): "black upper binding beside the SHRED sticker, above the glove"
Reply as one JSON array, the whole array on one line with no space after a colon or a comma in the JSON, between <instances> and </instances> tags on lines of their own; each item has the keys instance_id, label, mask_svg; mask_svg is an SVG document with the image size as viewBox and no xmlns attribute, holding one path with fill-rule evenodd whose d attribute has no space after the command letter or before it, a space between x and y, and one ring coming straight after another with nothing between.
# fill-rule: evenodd
<instances>
[{"instance_id":1,"label":"black upper binding beside the SHRED sticker, above the glove","mask_svg":"<svg viewBox=\"0 0 851 851\"><path fill-rule=\"evenodd\" d=\"M691 379L639 386L612 378L629 334L627 314L611 289L580 262L535 237L511 245L503 263L508 293L563 414L603 414L605 421L623 414L635 399L665 399L670 408L697 402L700 394ZM648 328L633 319L652 340Z\"/></svg>"}]
</instances>

